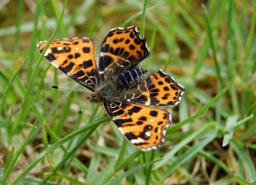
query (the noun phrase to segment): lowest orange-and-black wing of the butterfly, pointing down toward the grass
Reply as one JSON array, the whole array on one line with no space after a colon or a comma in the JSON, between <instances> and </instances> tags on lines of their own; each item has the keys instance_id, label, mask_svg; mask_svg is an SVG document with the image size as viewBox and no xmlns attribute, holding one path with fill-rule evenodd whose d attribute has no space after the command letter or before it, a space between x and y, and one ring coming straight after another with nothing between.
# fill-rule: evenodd
<instances>
[{"instance_id":1,"label":"lowest orange-and-black wing of the butterfly, pointing down toward the grass","mask_svg":"<svg viewBox=\"0 0 256 185\"><path fill-rule=\"evenodd\" d=\"M103 101L109 117L121 133L142 151L160 147L171 115L159 108L145 107L127 101Z\"/></svg>"}]
</instances>

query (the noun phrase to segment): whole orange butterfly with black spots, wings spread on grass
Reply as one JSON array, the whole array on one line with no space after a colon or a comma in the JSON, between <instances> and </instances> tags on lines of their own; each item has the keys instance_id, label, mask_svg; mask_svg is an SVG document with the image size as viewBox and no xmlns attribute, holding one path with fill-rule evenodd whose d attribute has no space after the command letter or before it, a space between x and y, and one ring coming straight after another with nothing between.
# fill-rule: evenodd
<instances>
[{"instance_id":1,"label":"whole orange butterfly with black spots, wings spread on grass","mask_svg":"<svg viewBox=\"0 0 256 185\"><path fill-rule=\"evenodd\" d=\"M38 43L42 53L47 41ZM172 116L163 109L177 105L184 87L161 70L147 74L138 64L149 55L136 26L111 29L102 41L96 64L89 38L52 41L44 57L75 82L92 91L90 101L100 103L118 129L141 151L164 142Z\"/></svg>"}]
</instances>

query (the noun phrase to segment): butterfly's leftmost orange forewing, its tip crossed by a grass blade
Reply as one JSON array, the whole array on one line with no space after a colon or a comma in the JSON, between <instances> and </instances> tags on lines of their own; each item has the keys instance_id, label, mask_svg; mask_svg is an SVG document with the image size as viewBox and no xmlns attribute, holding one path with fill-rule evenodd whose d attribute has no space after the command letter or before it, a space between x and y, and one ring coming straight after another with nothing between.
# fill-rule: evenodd
<instances>
[{"instance_id":1,"label":"butterfly's leftmost orange forewing, its tip crossed by a grass blade","mask_svg":"<svg viewBox=\"0 0 256 185\"><path fill-rule=\"evenodd\" d=\"M40 53L44 50L46 43L47 41L38 43ZM99 75L91 40L73 38L52 41L44 57L72 80L94 91Z\"/></svg>"}]
</instances>

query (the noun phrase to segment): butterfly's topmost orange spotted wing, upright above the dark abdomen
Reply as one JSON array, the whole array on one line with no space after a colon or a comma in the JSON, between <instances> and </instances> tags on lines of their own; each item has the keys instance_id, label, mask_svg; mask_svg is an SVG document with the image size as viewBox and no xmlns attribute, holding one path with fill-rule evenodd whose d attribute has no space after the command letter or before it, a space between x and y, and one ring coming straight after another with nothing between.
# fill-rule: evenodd
<instances>
[{"instance_id":1,"label":"butterfly's topmost orange spotted wing, upright above the dark abdomen","mask_svg":"<svg viewBox=\"0 0 256 185\"><path fill-rule=\"evenodd\" d=\"M111 29L100 48L98 64L100 78L109 78L110 75L134 68L148 54L146 40L140 38L135 26Z\"/></svg>"}]
</instances>

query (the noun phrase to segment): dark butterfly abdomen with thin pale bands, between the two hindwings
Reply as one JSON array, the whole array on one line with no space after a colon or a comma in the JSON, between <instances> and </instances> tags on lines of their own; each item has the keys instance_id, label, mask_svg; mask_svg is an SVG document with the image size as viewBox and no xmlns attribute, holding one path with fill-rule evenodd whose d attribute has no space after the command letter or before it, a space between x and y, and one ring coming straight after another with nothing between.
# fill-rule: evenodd
<instances>
[{"instance_id":1,"label":"dark butterfly abdomen with thin pale bands, between the two hindwings","mask_svg":"<svg viewBox=\"0 0 256 185\"><path fill-rule=\"evenodd\" d=\"M131 89L140 83L146 73L147 71L142 68L131 69L118 75L117 80L123 89Z\"/></svg>"}]
</instances>

